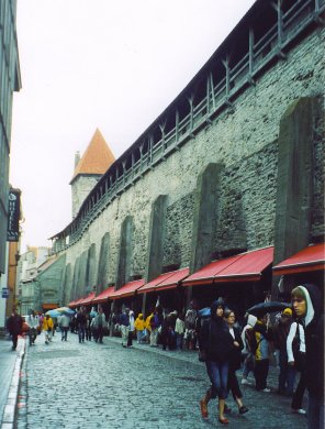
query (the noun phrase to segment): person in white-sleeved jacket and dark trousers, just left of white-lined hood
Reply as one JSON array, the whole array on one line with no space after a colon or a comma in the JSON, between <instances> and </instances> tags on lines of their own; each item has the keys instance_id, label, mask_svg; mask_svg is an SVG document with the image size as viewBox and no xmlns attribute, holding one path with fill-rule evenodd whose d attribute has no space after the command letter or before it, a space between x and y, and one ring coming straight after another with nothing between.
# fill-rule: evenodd
<instances>
[{"instance_id":1,"label":"person in white-sleeved jacket and dark trousers, just left of white-lined hood","mask_svg":"<svg viewBox=\"0 0 325 429\"><path fill-rule=\"evenodd\" d=\"M293 354L293 348L296 342L296 353ZM288 365L294 371L300 372L298 386L293 393L291 410L292 413L305 415L306 411L302 407L303 396L306 388L305 377L305 333L302 323L298 319L293 321L287 338L287 354Z\"/></svg>"}]
</instances>

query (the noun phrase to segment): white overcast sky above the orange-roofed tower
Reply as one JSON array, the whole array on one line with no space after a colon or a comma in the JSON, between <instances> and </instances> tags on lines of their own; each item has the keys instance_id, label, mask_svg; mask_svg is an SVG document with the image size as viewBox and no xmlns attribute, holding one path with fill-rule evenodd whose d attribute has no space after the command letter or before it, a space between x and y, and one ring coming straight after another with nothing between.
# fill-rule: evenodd
<instances>
[{"instance_id":1,"label":"white overcast sky above the orange-roofed tower","mask_svg":"<svg viewBox=\"0 0 325 429\"><path fill-rule=\"evenodd\" d=\"M19 0L22 90L10 183L22 249L71 220L75 153L97 128L115 157L167 108L254 0Z\"/></svg>"}]
</instances>

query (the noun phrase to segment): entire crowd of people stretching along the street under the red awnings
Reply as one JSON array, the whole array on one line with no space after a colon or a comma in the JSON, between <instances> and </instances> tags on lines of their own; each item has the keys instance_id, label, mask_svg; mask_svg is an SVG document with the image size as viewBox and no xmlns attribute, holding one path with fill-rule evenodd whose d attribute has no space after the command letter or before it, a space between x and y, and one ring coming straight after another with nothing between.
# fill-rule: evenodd
<instances>
[{"instance_id":1,"label":"entire crowd of people stretching along the street under the red awnings","mask_svg":"<svg viewBox=\"0 0 325 429\"><path fill-rule=\"evenodd\" d=\"M59 328L61 341L67 341L70 330L78 334L79 343L92 339L102 343L104 332L111 330L121 337L123 348L132 348L136 340L138 344L160 345L162 350L199 350L211 383L200 400L201 415L206 418L210 400L217 398L218 420L223 425L229 422L231 408L226 404L229 392L238 413L248 411L239 384L253 385L249 373L254 375L258 392L271 392L268 373L272 358L279 367L278 394L292 397L292 411L307 415L309 428L318 429L324 421L324 316L320 290L314 285L298 286L291 293L291 305L276 315L272 322L269 316L247 314L242 328L234 310L218 298L212 302L210 311L201 316L193 306L184 314L164 311L157 306L146 318L142 312L135 316L133 310L124 308L107 319L101 307L98 311L81 307L75 315L63 314L55 320L34 311L24 320L13 311L7 327L13 350L24 322L29 327L30 345L35 343L41 331L48 344ZM242 372L240 383L238 371ZM305 389L309 393L307 411L303 408Z\"/></svg>"}]
</instances>

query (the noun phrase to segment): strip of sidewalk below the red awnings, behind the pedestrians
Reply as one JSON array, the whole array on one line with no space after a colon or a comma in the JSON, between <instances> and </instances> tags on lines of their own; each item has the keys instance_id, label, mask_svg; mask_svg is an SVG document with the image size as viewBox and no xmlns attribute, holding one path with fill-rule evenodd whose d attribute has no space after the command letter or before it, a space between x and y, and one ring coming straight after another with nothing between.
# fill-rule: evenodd
<instances>
[{"instance_id":1,"label":"strip of sidewalk below the red awnings, behind the pedestrians","mask_svg":"<svg viewBox=\"0 0 325 429\"><path fill-rule=\"evenodd\" d=\"M122 344L122 340L120 337L104 337L103 341L104 342L112 341L117 344ZM161 345L157 348L152 348L147 343L137 344L136 340L133 340L133 349L141 350L143 352L148 352L148 353L157 353L164 355L166 359L176 359L183 362L190 362L195 365L204 365L204 363L199 362L197 350L162 350ZM240 378L242 378L240 371L237 371L237 376L240 383ZM278 389L278 377L279 377L279 369L270 364L269 374L268 374L268 387L272 392L277 392ZM253 386L255 386L255 378L253 373L249 374L248 381L253 383Z\"/></svg>"}]
</instances>

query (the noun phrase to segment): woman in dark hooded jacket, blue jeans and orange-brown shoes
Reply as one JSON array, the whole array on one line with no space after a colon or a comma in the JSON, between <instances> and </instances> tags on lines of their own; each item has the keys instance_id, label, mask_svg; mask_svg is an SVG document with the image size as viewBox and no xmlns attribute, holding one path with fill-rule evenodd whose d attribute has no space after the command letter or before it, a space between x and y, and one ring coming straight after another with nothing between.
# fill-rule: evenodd
<instances>
[{"instance_id":1,"label":"woman in dark hooded jacket, blue jeans and orange-brown shoes","mask_svg":"<svg viewBox=\"0 0 325 429\"><path fill-rule=\"evenodd\" d=\"M225 417L225 399L228 395L228 366L231 353L235 346L239 346L229 333L229 329L223 319L224 301L218 298L211 305L211 319L203 323L200 330L200 346L205 351L205 366L211 387L204 398L200 400L202 417L208 417L208 404L210 399L218 397L218 421L228 425Z\"/></svg>"}]
</instances>

